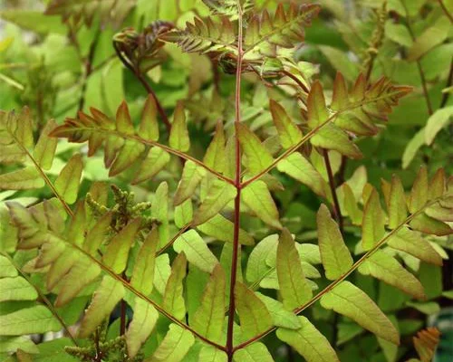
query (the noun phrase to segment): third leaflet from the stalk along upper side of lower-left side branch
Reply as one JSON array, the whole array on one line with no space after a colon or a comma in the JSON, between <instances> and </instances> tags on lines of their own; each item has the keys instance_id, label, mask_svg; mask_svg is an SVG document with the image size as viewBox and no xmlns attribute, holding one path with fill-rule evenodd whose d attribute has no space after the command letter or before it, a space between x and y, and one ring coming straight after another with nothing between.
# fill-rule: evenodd
<instances>
[{"instance_id":1,"label":"third leaflet from the stalk along upper side of lower-left side branch","mask_svg":"<svg viewBox=\"0 0 453 362\"><path fill-rule=\"evenodd\" d=\"M132 271L130 285L145 295L149 295L152 291L158 244L159 232L156 227L153 227L141 245L139 255L137 256Z\"/></svg>"}]
</instances>

